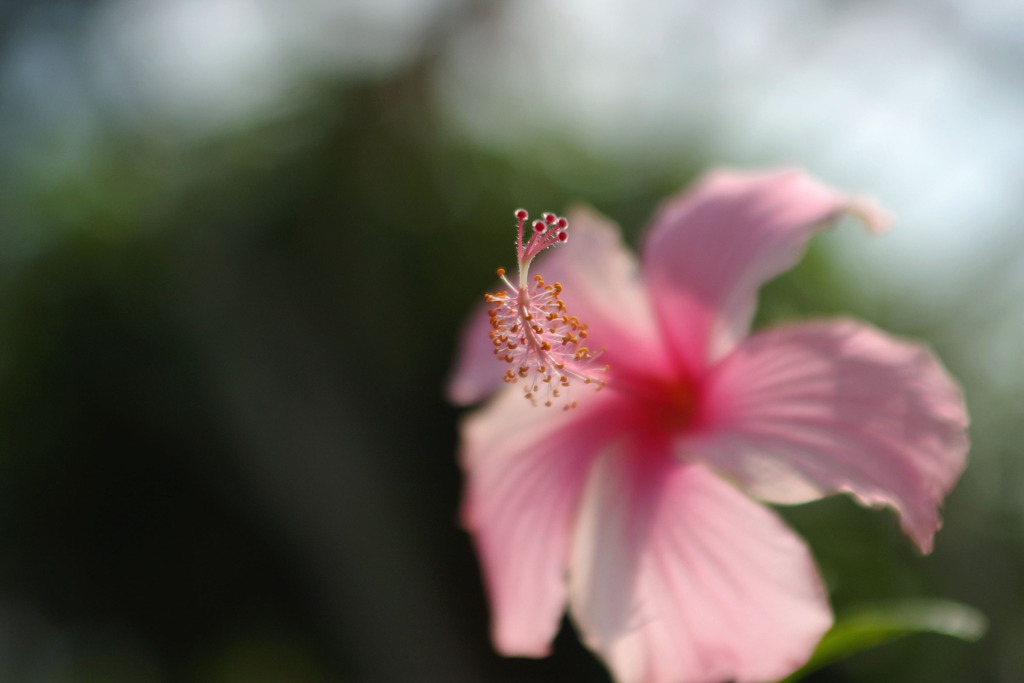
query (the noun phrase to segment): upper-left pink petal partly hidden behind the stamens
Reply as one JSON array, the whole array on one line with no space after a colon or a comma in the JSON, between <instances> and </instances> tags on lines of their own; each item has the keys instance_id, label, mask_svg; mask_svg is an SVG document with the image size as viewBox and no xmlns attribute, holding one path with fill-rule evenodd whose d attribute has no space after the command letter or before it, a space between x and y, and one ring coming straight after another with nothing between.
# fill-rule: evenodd
<instances>
[{"instance_id":1,"label":"upper-left pink petal partly hidden behind the stamens","mask_svg":"<svg viewBox=\"0 0 1024 683\"><path fill-rule=\"evenodd\" d=\"M530 273L562 284L569 314L588 326L587 345L595 353L603 350L597 364L610 366L616 382L662 372L668 356L654 313L636 258L623 245L614 224L589 209L577 209L569 215L569 236L566 244L539 257ZM475 402L501 384L506 367L492 352L488 330L481 304L463 331L449 381L454 402Z\"/></svg>"}]
</instances>

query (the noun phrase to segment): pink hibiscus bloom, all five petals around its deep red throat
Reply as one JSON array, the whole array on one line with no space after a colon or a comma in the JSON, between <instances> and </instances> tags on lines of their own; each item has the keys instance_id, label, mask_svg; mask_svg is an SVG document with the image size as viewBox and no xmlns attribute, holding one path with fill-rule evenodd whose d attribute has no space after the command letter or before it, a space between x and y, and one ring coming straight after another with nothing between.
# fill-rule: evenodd
<instances>
[{"instance_id":1,"label":"pink hibiscus bloom, all five petals around its deep red throat","mask_svg":"<svg viewBox=\"0 0 1024 683\"><path fill-rule=\"evenodd\" d=\"M931 550L968 447L961 391L936 357L851 319L749 336L759 287L844 213L882 228L799 171L712 173L662 208L639 266L607 221L572 216L568 244L535 266L560 283L544 310L582 321L570 332L603 350L517 350L506 378L523 358L558 361L550 382L523 381L565 376L571 411L502 384L488 332L510 309L471 319L452 398L506 386L465 419L461 453L499 651L547 654L567 604L620 681L774 680L831 614L804 542L756 501L850 494L894 508ZM584 385L594 377L600 391Z\"/></svg>"}]
</instances>

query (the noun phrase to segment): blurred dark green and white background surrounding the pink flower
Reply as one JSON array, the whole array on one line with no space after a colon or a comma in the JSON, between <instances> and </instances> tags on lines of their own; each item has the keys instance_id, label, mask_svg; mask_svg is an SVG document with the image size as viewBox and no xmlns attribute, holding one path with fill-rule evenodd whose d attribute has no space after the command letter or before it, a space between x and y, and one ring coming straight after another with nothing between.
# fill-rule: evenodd
<instances>
[{"instance_id":1,"label":"blurred dark green and white background surrounding the pink flower","mask_svg":"<svg viewBox=\"0 0 1024 683\"><path fill-rule=\"evenodd\" d=\"M922 558L890 513L783 510L840 613L934 596L818 682L1024 671L1024 4L0 1L0 680L594 681L503 659L456 522L458 329L511 211L636 244L716 165L877 197L763 295L964 383Z\"/></svg>"}]
</instances>

